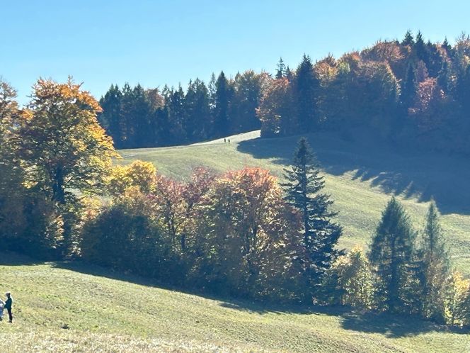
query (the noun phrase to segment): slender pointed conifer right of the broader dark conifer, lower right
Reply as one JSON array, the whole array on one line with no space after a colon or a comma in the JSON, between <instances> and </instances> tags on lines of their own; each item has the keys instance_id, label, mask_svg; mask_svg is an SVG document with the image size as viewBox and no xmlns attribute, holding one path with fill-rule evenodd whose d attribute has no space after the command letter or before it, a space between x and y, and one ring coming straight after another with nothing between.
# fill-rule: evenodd
<instances>
[{"instance_id":1,"label":"slender pointed conifer right of the broader dark conifer, lower right","mask_svg":"<svg viewBox=\"0 0 470 353\"><path fill-rule=\"evenodd\" d=\"M432 200L426 215L422 248L422 301L423 315L440 322L444 321L443 291L450 262L444 234L439 222L439 211Z\"/></svg>"}]
</instances>

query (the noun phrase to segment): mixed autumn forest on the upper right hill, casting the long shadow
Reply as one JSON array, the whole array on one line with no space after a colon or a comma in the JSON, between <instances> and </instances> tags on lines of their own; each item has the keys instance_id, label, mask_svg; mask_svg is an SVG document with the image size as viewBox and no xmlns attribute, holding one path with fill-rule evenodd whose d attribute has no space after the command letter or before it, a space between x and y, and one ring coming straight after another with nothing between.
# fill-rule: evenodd
<instances>
[{"instance_id":1,"label":"mixed autumn forest on the upper right hill, casting the long shadow","mask_svg":"<svg viewBox=\"0 0 470 353\"><path fill-rule=\"evenodd\" d=\"M406 149L470 152L470 38L425 42L408 31L339 59L304 55L294 72L278 65L263 92L261 135L316 130L382 140Z\"/></svg>"}]
</instances>

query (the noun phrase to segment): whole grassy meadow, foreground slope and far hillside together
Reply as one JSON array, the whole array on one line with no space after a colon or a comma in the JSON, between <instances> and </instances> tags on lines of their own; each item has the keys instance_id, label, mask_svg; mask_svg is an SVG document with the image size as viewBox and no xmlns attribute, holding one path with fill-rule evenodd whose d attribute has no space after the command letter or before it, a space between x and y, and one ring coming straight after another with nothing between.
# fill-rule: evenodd
<instances>
[{"instance_id":1,"label":"whole grassy meadow, foreground slope and far hillside together","mask_svg":"<svg viewBox=\"0 0 470 353\"><path fill-rule=\"evenodd\" d=\"M282 177L297 138L258 132L182 146L120 151L185 178L192 167L260 166ZM470 166L462 157L392 150L309 136L344 226L342 247L367 245L391 194L415 226L434 196L456 267L470 275ZM470 332L412 318L342 308L263 306L181 293L79 263L35 263L0 252L0 290L15 298L0 323L7 352L470 352Z\"/></svg>"}]
</instances>

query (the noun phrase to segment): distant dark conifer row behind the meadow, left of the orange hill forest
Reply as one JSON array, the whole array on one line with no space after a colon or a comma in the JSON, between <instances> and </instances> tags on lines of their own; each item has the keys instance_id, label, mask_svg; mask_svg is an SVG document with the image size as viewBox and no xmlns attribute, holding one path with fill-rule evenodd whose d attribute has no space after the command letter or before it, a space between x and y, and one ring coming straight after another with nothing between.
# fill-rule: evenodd
<instances>
[{"instance_id":1,"label":"distant dark conifer row behind the meadow, left of the orange hill forest","mask_svg":"<svg viewBox=\"0 0 470 353\"><path fill-rule=\"evenodd\" d=\"M224 72L188 89L122 89L111 85L101 98L99 121L117 148L182 145L260 128L256 116L268 74L248 70L227 79Z\"/></svg>"}]
</instances>

